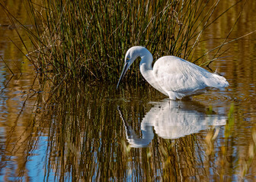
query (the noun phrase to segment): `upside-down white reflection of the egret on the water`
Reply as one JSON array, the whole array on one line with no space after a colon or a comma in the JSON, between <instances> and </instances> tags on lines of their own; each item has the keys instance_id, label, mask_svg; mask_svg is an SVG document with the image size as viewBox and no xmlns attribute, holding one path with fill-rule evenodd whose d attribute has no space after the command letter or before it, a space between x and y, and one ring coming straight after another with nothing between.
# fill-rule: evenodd
<instances>
[{"instance_id":1,"label":"upside-down white reflection of the egret on the water","mask_svg":"<svg viewBox=\"0 0 256 182\"><path fill-rule=\"evenodd\" d=\"M142 137L138 137L130 124L123 118L120 107L117 107L126 130L126 140L131 147L149 146L154 138L153 127L159 137L178 139L192 133L198 133L200 130L206 130L210 126L226 125L226 117L216 113L207 115L205 106L198 102L164 99L160 102L151 103L153 107L142 119Z\"/></svg>"}]
</instances>

